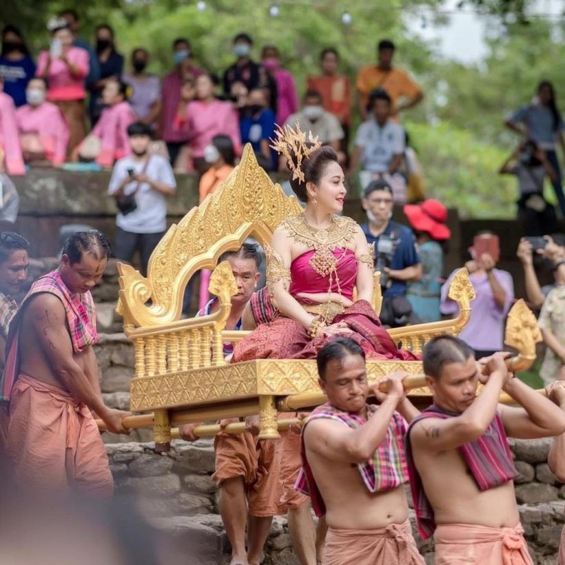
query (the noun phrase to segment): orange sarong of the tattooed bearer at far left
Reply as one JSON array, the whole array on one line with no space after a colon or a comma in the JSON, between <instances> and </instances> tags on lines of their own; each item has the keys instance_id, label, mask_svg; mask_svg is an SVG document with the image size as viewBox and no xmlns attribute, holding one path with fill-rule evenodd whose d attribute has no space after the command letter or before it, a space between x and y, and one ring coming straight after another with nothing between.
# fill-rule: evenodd
<instances>
[{"instance_id":1,"label":"orange sarong of the tattooed bearer at far left","mask_svg":"<svg viewBox=\"0 0 565 565\"><path fill-rule=\"evenodd\" d=\"M20 374L10 400L8 460L25 491L111 497L114 481L92 413L70 394Z\"/></svg>"}]
</instances>

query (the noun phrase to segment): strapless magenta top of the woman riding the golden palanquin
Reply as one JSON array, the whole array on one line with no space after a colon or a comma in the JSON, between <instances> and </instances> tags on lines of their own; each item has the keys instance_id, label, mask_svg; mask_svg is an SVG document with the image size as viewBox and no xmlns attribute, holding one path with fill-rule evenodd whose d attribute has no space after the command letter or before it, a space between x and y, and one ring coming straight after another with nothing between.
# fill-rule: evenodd
<instances>
[{"instance_id":1,"label":"strapless magenta top of the woman riding the golden palanquin","mask_svg":"<svg viewBox=\"0 0 565 565\"><path fill-rule=\"evenodd\" d=\"M353 300L353 289L357 282L358 263L355 253L351 249L333 249L333 256L338 258L338 281L335 276L321 276L309 264L309 260L316 253L315 249L306 251L298 256L290 265L289 293L296 296L301 292L316 294L320 292L338 292L345 298ZM304 301L300 299L300 301Z\"/></svg>"}]
</instances>

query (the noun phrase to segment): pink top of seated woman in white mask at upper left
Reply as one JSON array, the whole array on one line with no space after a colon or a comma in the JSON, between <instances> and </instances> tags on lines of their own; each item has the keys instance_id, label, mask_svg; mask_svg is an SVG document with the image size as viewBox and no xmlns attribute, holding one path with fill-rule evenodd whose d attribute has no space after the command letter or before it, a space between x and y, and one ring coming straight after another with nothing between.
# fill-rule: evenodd
<instances>
[{"instance_id":1,"label":"pink top of seated woman in white mask at upper left","mask_svg":"<svg viewBox=\"0 0 565 565\"><path fill-rule=\"evenodd\" d=\"M65 162L69 144L69 127L61 110L50 102L39 106L25 104L16 110L19 133L37 134L45 157L54 165Z\"/></svg>"}]
</instances>

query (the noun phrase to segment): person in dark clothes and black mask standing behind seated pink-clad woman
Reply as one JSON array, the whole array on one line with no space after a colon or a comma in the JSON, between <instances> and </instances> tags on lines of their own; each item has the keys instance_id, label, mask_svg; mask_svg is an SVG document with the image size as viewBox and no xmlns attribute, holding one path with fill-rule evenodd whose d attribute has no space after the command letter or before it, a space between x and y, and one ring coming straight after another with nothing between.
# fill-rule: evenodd
<instances>
[{"instance_id":1,"label":"person in dark clothes and black mask standing behind seated pink-clad woman","mask_svg":"<svg viewBox=\"0 0 565 565\"><path fill-rule=\"evenodd\" d=\"M102 92L105 85L120 79L123 73L123 55L116 51L114 29L107 23L96 26L96 55L100 65L100 78L90 88L90 121L96 125L104 108Z\"/></svg>"}]
</instances>

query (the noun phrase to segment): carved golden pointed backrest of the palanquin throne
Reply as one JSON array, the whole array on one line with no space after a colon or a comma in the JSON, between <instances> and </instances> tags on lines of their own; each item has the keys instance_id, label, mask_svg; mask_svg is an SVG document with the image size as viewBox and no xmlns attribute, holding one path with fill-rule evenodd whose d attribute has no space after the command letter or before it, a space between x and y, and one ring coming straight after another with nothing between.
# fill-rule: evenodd
<instances>
[{"instance_id":1,"label":"carved golden pointed backrest of the palanquin throne","mask_svg":"<svg viewBox=\"0 0 565 565\"><path fill-rule=\"evenodd\" d=\"M175 322L185 286L200 269L214 269L218 257L237 249L249 235L265 246L276 226L302 208L258 165L247 144L239 165L216 191L172 225L149 261L147 277L119 263L119 305L127 329Z\"/></svg>"}]
</instances>

